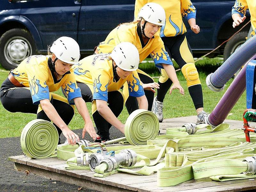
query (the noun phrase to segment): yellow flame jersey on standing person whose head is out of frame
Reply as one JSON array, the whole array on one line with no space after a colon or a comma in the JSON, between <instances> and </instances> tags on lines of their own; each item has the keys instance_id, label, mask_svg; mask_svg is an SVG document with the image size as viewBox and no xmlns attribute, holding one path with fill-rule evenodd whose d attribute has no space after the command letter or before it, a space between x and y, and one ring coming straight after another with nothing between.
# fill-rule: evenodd
<instances>
[{"instance_id":1,"label":"yellow flame jersey on standing person whose head is out of frame","mask_svg":"<svg viewBox=\"0 0 256 192\"><path fill-rule=\"evenodd\" d=\"M161 37L172 37L186 33L182 17L196 19L196 8L190 0L136 0L134 20L137 20L140 9L147 3L157 3L164 8L166 23L160 29Z\"/></svg>"}]
</instances>

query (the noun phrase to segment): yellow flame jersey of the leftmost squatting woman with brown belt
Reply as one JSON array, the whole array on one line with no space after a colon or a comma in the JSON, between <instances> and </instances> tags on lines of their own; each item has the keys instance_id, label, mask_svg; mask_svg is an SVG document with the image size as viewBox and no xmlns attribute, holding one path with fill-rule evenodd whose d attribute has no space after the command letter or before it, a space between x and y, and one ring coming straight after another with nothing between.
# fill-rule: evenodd
<instances>
[{"instance_id":1,"label":"yellow flame jersey of the leftmost squatting woman with brown belt","mask_svg":"<svg viewBox=\"0 0 256 192\"><path fill-rule=\"evenodd\" d=\"M74 104L74 98L82 97L73 69L57 80L49 55L32 55L23 60L17 68L11 70L11 73L20 84L30 87L34 104L40 104L40 100L43 99L50 100L49 92L57 91L60 87L64 89L71 105Z\"/></svg>"}]
</instances>

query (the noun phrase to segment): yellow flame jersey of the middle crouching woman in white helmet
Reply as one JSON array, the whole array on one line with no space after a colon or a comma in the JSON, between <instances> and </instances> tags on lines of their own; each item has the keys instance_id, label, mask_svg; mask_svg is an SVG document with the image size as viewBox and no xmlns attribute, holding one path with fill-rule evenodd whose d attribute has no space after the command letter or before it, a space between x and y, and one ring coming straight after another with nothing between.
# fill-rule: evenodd
<instances>
[{"instance_id":1,"label":"yellow flame jersey of the middle crouching woman in white helmet","mask_svg":"<svg viewBox=\"0 0 256 192\"><path fill-rule=\"evenodd\" d=\"M128 83L130 96L143 96L145 93L138 73L133 71L125 79L118 78L113 61L109 58L110 54L94 54L80 60L72 66L76 81L92 85L89 87L94 100L108 101L108 92L119 90L125 82Z\"/></svg>"}]
</instances>

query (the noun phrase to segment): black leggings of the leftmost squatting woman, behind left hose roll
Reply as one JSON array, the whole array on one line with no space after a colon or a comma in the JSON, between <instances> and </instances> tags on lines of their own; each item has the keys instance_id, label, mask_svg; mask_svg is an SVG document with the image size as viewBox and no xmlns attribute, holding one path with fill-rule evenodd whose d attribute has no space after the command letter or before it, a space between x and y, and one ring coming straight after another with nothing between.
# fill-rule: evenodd
<instances>
[{"instance_id":1,"label":"black leggings of the leftmost squatting woman, behind left hose roll","mask_svg":"<svg viewBox=\"0 0 256 192\"><path fill-rule=\"evenodd\" d=\"M49 117L45 114L44 110L37 112L38 105L33 104L31 93L28 88L17 88L10 82L8 78L3 82L0 88L0 99L3 107L7 111L10 111L12 113L33 113L37 114L37 119L51 121ZM50 102L60 115L61 119L63 119L65 124L68 125L72 117L74 116L74 109L68 103L54 99L54 96L51 97ZM56 126L56 124L54 125ZM59 127L56 126L56 128L60 136L62 131Z\"/></svg>"}]
</instances>

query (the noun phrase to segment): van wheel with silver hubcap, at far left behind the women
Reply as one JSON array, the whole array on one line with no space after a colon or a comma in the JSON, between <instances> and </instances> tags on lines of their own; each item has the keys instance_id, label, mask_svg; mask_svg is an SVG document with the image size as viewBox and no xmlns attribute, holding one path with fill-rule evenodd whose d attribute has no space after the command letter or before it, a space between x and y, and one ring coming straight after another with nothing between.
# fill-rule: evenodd
<instances>
[{"instance_id":1,"label":"van wheel with silver hubcap, at far left behind the women","mask_svg":"<svg viewBox=\"0 0 256 192\"><path fill-rule=\"evenodd\" d=\"M10 29L0 38L0 64L7 70L16 68L21 61L35 53L36 44L27 29Z\"/></svg>"}]
</instances>

